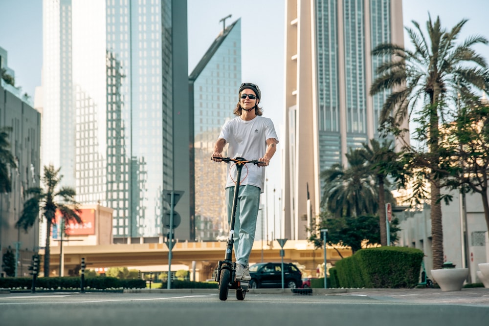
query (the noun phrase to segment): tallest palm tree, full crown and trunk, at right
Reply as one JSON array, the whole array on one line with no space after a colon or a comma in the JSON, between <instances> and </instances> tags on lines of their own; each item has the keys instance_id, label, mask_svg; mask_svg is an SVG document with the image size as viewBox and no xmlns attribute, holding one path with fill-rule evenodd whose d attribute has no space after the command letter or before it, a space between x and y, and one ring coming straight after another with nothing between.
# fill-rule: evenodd
<instances>
[{"instance_id":1,"label":"tallest palm tree, full crown and trunk, at right","mask_svg":"<svg viewBox=\"0 0 489 326\"><path fill-rule=\"evenodd\" d=\"M378 77L373 82L370 94L392 91L383 104L380 126L399 135L405 131L401 124L422 104L419 138L427 146L422 168L430 181L431 233L433 268L443 267L443 230L440 202L440 178L429 166L437 167L440 161L439 121L448 109L448 102L457 91L469 94L473 87L484 87L486 61L478 55L473 46L487 44L487 39L475 36L457 44L457 38L467 20L457 23L450 31L442 28L440 18L426 22L428 38L420 25L412 22L415 29L406 28L415 51L396 44L385 43L373 50L373 55L387 58L377 69ZM457 83L460 83L457 85ZM419 153L406 144L406 149Z\"/></svg>"}]
</instances>

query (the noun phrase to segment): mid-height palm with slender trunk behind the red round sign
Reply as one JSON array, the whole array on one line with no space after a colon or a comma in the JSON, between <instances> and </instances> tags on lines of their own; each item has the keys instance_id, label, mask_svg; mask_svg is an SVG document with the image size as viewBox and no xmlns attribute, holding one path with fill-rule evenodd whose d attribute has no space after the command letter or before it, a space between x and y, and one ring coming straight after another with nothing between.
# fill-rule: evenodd
<instances>
[{"instance_id":1,"label":"mid-height palm with slender trunk behind the red round sign","mask_svg":"<svg viewBox=\"0 0 489 326\"><path fill-rule=\"evenodd\" d=\"M380 244L387 245L387 225L385 224L385 186L389 185L389 175L397 176L400 166L397 160L398 154L394 151L393 141L384 140L382 144L376 139L370 140L370 146L363 144L363 152L360 152L369 163L370 170L377 181L378 186L378 218L380 226ZM387 191L390 194L390 191ZM392 196L391 196L392 197ZM389 199L391 200L391 199Z\"/></svg>"}]
</instances>

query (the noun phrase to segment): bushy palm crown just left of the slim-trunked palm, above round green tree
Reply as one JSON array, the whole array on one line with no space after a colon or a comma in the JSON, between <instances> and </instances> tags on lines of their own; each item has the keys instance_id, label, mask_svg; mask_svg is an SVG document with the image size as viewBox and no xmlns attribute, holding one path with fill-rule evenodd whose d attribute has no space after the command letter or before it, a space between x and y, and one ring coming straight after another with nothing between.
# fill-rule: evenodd
<instances>
[{"instance_id":1,"label":"bushy palm crown just left of the slim-trunked palm, above round green tree","mask_svg":"<svg viewBox=\"0 0 489 326\"><path fill-rule=\"evenodd\" d=\"M375 214L378 210L377 190L372 173L366 165L361 149L349 149L346 154L349 168L334 164L321 173L325 181L321 206L335 217Z\"/></svg>"}]
</instances>

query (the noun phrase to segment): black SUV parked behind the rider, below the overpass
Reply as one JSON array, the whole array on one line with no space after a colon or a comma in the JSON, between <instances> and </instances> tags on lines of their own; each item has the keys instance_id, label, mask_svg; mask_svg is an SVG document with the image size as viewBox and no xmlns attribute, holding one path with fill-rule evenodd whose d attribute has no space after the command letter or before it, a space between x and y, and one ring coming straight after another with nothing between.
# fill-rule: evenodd
<instances>
[{"instance_id":1,"label":"black SUV parked behind the rider, below the overpass","mask_svg":"<svg viewBox=\"0 0 489 326\"><path fill-rule=\"evenodd\" d=\"M281 262L260 262L249 266L249 287L256 289L259 287L278 287L282 288L282 263ZM298 288L302 286L302 273L292 263L284 262L284 287Z\"/></svg>"}]
</instances>

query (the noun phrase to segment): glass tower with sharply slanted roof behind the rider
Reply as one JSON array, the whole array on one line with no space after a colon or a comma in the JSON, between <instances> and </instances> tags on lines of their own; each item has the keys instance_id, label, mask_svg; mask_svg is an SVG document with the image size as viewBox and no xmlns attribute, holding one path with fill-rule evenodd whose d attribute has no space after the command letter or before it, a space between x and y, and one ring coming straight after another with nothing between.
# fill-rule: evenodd
<instances>
[{"instance_id":1,"label":"glass tower with sharply slanted roof behind the rider","mask_svg":"<svg viewBox=\"0 0 489 326\"><path fill-rule=\"evenodd\" d=\"M229 228L224 196L227 165L211 161L211 155L222 125L234 116L239 101L240 19L223 28L190 74L189 85L194 118L196 240L215 240L227 236Z\"/></svg>"}]
</instances>

